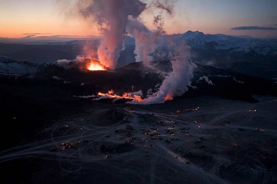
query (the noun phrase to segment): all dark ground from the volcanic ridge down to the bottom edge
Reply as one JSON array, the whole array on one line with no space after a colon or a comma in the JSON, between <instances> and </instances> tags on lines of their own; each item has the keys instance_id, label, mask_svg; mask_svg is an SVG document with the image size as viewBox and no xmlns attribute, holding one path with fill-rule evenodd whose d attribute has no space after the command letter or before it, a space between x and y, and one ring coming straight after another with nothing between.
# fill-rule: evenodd
<instances>
[{"instance_id":1,"label":"all dark ground from the volcanic ridge down to the bottom edge","mask_svg":"<svg viewBox=\"0 0 277 184\"><path fill-rule=\"evenodd\" d=\"M169 62L151 64L171 70ZM198 81L203 76L214 85ZM276 87L270 80L199 65L192 80L197 89L165 104L75 97L111 89L145 93L163 77L143 63L94 72L49 66L1 77L1 181L276 182L276 97L268 96Z\"/></svg>"}]
</instances>

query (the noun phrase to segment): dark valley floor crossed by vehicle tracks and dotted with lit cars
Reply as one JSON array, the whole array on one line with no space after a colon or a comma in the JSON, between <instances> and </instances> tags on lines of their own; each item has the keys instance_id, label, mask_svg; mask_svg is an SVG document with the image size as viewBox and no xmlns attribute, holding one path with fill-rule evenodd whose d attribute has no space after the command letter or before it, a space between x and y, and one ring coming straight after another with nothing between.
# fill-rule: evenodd
<instances>
[{"instance_id":1,"label":"dark valley floor crossed by vehicle tracks and dotted with lit cars","mask_svg":"<svg viewBox=\"0 0 277 184\"><path fill-rule=\"evenodd\" d=\"M277 98L254 97L91 101L2 151L1 182L277 183Z\"/></svg>"}]
</instances>

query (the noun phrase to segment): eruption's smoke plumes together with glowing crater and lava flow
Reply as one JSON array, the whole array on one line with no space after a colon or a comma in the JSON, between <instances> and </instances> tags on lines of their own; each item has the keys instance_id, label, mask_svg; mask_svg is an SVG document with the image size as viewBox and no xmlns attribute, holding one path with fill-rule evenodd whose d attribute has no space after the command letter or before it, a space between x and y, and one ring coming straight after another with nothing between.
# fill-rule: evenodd
<instances>
[{"instance_id":1,"label":"eruption's smoke plumes together with glowing crater and lava flow","mask_svg":"<svg viewBox=\"0 0 277 184\"><path fill-rule=\"evenodd\" d=\"M173 38L168 37L166 40L162 38L162 35L166 34L163 28L163 12L172 15L173 1L170 3L156 0L147 5L140 0L79 0L77 5L80 15L87 21L96 23L98 30L103 34L97 47L90 48L87 45L84 47L86 52L84 55L93 58L84 59L86 70L115 69L120 53L125 49L125 40L128 35L135 39L133 52L136 55L136 62L141 60L151 62L156 59L153 56L161 55L159 49L156 49L168 43L166 46L167 59L171 62L172 71L164 75L161 84L156 84L160 86L159 89L156 89L151 95L143 95L142 92L135 95L126 93L123 96L98 93L100 98L131 99L132 104L160 104L188 91L188 86L193 78L193 66L189 62L190 48L184 43L174 43ZM160 10L153 19L154 30L148 28L140 17L149 8ZM159 73L154 66L152 69Z\"/></svg>"}]
</instances>

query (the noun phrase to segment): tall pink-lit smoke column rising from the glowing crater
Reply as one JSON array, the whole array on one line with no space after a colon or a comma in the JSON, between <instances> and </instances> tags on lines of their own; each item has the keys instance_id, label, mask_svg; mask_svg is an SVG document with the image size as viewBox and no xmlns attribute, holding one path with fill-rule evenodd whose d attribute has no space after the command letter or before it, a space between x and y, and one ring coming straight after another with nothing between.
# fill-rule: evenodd
<instances>
[{"instance_id":1,"label":"tall pink-lit smoke column rising from the glowing crater","mask_svg":"<svg viewBox=\"0 0 277 184\"><path fill-rule=\"evenodd\" d=\"M82 16L97 22L98 29L103 33L97 50L98 59L106 67L114 69L118 53L123 49L128 17L137 18L146 4L138 0L79 0L78 7L82 7Z\"/></svg>"}]
</instances>

